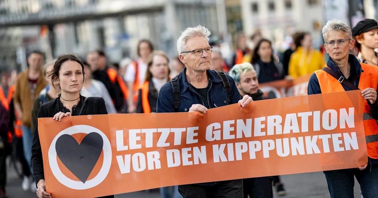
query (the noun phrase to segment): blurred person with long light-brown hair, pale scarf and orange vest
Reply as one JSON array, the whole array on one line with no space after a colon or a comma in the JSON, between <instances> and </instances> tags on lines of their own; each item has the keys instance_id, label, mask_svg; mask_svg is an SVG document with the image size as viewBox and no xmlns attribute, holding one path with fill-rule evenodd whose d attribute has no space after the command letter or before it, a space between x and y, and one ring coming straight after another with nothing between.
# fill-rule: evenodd
<instances>
[{"instance_id":1,"label":"blurred person with long light-brown hair, pale scarf and orange vest","mask_svg":"<svg viewBox=\"0 0 378 198\"><path fill-rule=\"evenodd\" d=\"M169 58L162 51L152 52L147 63L146 78L138 90L136 113L156 113L160 88L169 81Z\"/></svg>"}]
</instances>

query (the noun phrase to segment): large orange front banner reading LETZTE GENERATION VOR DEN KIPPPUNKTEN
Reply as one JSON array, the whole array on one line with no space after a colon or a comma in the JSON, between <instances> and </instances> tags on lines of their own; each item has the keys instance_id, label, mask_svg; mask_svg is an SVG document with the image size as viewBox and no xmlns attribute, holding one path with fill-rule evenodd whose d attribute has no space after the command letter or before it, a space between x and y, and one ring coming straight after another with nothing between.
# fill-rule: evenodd
<instances>
[{"instance_id":1,"label":"large orange front banner reading LETZTE GENERATION VOR DEN KIPPPUNKTEN","mask_svg":"<svg viewBox=\"0 0 378 198\"><path fill-rule=\"evenodd\" d=\"M39 118L46 191L98 197L179 184L362 167L359 91L196 113Z\"/></svg>"}]
</instances>

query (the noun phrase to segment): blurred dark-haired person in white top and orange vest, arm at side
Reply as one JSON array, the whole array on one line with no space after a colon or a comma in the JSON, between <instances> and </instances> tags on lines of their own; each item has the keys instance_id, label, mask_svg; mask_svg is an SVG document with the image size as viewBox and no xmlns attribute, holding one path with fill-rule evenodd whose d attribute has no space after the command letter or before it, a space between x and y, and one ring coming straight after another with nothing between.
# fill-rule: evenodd
<instances>
[{"instance_id":1,"label":"blurred dark-haired person in white top and orange vest, arm at side","mask_svg":"<svg viewBox=\"0 0 378 198\"><path fill-rule=\"evenodd\" d=\"M149 40L141 40L138 43L137 53L138 60L133 61L127 66L125 81L129 87L129 97L127 98L128 112L134 113L136 110L136 102L138 99L138 89L144 83L147 62L153 51L153 45Z\"/></svg>"}]
</instances>

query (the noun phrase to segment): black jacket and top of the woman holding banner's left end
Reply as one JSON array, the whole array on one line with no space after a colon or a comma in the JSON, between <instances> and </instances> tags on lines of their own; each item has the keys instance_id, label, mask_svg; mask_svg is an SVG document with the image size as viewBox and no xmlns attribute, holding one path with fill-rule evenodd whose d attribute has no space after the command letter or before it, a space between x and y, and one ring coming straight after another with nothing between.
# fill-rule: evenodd
<instances>
[{"instance_id":1,"label":"black jacket and top of the woman holding banner's left end","mask_svg":"<svg viewBox=\"0 0 378 198\"><path fill-rule=\"evenodd\" d=\"M80 101L77 105L73 106L72 108L72 116L78 115L83 105L85 97L80 96ZM60 101L60 95L58 98L51 100L45 104L42 104L39 107L37 118L52 118L58 112L70 112L69 109L63 106L62 102ZM85 101L83 111L81 115L98 115L98 114L108 114L105 106L105 101L103 98L100 97L89 97L87 101ZM64 119L64 118L63 118ZM36 184L39 180L44 180L44 172L43 172L43 160L42 160L42 150L41 144L39 141L39 134L38 134L38 120L36 123L36 128L34 129L34 138L33 144L31 147L31 163L33 168L33 175L36 181Z\"/></svg>"}]
</instances>

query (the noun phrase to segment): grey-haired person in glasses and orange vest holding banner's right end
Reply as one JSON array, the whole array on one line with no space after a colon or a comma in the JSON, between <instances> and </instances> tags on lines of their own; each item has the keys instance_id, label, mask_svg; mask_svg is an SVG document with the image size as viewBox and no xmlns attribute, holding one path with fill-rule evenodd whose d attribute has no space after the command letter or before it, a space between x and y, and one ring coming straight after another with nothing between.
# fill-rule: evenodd
<instances>
[{"instance_id":1,"label":"grey-haired person in glasses and orange vest holding banner's right end","mask_svg":"<svg viewBox=\"0 0 378 198\"><path fill-rule=\"evenodd\" d=\"M327 65L310 77L308 94L361 90L368 163L359 168L324 171L331 198L353 198L354 177L364 198L378 197L378 68L359 63L349 51L354 47L352 31L341 20L330 20L323 28ZM341 100L345 100L342 99ZM326 160L326 159L323 159Z\"/></svg>"}]
</instances>

